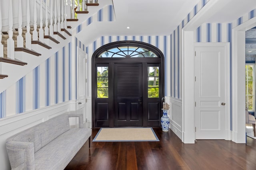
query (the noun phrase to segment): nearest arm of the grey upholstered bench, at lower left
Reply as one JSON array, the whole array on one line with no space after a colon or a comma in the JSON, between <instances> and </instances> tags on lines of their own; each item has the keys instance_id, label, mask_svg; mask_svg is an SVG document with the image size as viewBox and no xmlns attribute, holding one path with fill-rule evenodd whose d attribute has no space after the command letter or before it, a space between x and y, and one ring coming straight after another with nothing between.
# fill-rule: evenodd
<instances>
[{"instance_id":1,"label":"nearest arm of the grey upholstered bench, at lower left","mask_svg":"<svg viewBox=\"0 0 256 170\"><path fill-rule=\"evenodd\" d=\"M34 170L34 143L6 141L6 149L12 170Z\"/></svg>"}]
</instances>

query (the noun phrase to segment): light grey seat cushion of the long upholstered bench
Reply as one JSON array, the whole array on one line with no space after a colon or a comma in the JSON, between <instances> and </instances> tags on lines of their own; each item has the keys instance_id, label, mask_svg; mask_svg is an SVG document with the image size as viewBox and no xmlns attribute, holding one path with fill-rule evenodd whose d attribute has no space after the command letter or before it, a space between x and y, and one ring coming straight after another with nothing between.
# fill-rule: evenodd
<instances>
[{"instance_id":1,"label":"light grey seat cushion of the long upholstered bench","mask_svg":"<svg viewBox=\"0 0 256 170\"><path fill-rule=\"evenodd\" d=\"M63 170L91 134L92 129L74 128L58 136L35 152L35 170Z\"/></svg>"}]
</instances>

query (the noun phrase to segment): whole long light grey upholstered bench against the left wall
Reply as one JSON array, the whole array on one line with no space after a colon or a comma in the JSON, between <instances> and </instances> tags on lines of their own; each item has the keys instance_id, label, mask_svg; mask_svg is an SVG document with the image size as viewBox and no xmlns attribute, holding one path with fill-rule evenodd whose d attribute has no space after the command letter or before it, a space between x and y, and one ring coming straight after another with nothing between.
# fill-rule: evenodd
<instances>
[{"instance_id":1,"label":"whole long light grey upholstered bench against the left wall","mask_svg":"<svg viewBox=\"0 0 256 170\"><path fill-rule=\"evenodd\" d=\"M79 117L79 128L70 128L69 117ZM63 170L92 129L83 127L82 114L62 114L6 140L13 170Z\"/></svg>"}]
</instances>

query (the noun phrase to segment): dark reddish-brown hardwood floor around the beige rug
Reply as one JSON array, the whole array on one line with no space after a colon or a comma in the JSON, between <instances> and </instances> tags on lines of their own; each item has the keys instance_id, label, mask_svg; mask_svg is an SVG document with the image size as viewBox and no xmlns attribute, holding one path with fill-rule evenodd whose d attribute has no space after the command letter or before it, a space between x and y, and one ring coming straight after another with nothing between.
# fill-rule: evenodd
<instances>
[{"instance_id":1,"label":"dark reddish-brown hardwood floor around the beige rug","mask_svg":"<svg viewBox=\"0 0 256 170\"><path fill-rule=\"evenodd\" d=\"M99 129L92 129L94 139ZM154 128L160 142L91 142L65 170L256 170L256 140L247 144L198 140L184 144L172 132Z\"/></svg>"}]
</instances>

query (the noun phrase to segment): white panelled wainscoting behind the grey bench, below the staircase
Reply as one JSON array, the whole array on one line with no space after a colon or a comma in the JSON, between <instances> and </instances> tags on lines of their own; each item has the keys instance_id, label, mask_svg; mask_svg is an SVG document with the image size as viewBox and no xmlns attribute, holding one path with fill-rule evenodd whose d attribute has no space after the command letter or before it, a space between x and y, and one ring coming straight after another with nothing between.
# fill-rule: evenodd
<instances>
[{"instance_id":1,"label":"white panelled wainscoting behind the grey bench, below the staircase","mask_svg":"<svg viewBox=\"0 0 256 170\"><path fill-rule=\"evenodd\" d=\"M77 102L67 101L60 104L36 109L0 119L0 165L1 169L10 169L10 163L6 152L6 139L12 135L28 129L41 122L47 121L52 117L73 111Z\"/></svg>"}]
</instances>

